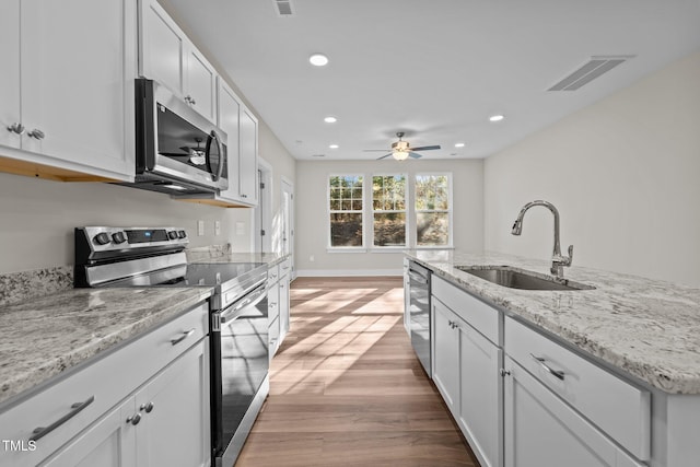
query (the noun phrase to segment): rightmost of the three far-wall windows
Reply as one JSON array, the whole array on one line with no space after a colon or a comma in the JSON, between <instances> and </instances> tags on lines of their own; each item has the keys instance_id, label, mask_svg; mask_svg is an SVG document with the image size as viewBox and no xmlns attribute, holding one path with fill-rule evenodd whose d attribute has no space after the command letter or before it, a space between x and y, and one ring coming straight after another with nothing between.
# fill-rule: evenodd
<instances>
[{"instance_id":1,"label":"rightmost of the three far-wall windows","mask_svg":"<svg viewBox=\"0 0 700 467\"><path fill-rule=\"evenodd\" d=\"M450 177L416 175L416 246L450 245Z\"/></svg>"}]
</instances>

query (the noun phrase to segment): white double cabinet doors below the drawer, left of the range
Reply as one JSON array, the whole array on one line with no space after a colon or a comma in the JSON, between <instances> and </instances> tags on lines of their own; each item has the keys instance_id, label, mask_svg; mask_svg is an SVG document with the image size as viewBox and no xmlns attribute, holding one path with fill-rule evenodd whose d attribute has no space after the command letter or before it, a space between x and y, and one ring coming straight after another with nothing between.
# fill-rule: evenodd
<instances>
[{"instance_id":1,"label":"white double cabinet doors below the drawer, left of the range","mask_svg":"<svg viewBox=\"0 0 700 467\"><path fill-rule=\"evenodd\" d=\"M209 466L208 361L205 339L39 465Z\"/></svg>"}]
</instances>

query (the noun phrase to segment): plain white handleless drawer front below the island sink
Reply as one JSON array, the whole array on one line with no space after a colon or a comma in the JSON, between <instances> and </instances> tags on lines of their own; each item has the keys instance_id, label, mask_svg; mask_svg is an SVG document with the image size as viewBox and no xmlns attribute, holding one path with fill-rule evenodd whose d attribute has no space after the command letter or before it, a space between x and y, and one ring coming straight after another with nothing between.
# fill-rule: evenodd
<instances>
[{"instance_id":1,"label":"plain white handleless drawer front below the island sink","mask_svg":"<svg viewBox=\"0 0 700 467\"><path fill-rule=\"evenodd\" d=\"M447 305L462 319L481 332L491 342L499 343L500 312L464 290L436 277L432 277L432 294Z\"/></svg>"}]
</instances>

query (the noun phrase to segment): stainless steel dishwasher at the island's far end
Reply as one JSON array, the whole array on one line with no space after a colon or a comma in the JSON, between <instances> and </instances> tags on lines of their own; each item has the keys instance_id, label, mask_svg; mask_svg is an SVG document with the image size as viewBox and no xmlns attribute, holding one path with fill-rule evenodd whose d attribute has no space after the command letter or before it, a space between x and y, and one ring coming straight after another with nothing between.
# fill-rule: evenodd
<instances>
[{"instance_id":1,"label":"stainless steel dishwasher at the island's far end","mask_svg":"<svg viewBox=\"0 0 700 467\"><path fill-rule=\"evenodd\" d=\"M431 346L430 346L430 270L418 262L410 261L408 265L409 295L410 295L410 330L411 346L418 355L418 360L423 365L428 376L432 377L431 371Z\"/></svg>"}]
</instances>

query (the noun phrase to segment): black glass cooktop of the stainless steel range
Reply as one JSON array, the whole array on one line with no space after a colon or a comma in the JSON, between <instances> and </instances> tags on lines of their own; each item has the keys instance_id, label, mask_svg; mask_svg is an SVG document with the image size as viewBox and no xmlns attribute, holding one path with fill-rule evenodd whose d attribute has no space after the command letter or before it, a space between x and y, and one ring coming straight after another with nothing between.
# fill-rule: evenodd
<instances>
[{"instance_id":1,"label":"black glass cooktop of the stainless steel range","mask_svg":"<svg viewBox=\"0 0 700 467\"><path fill-rule=\"evenodd\" d=\"M195 262L133 276L107 287L215 287L264 266L265 262Z\"/></svg>"}]
</instances>

